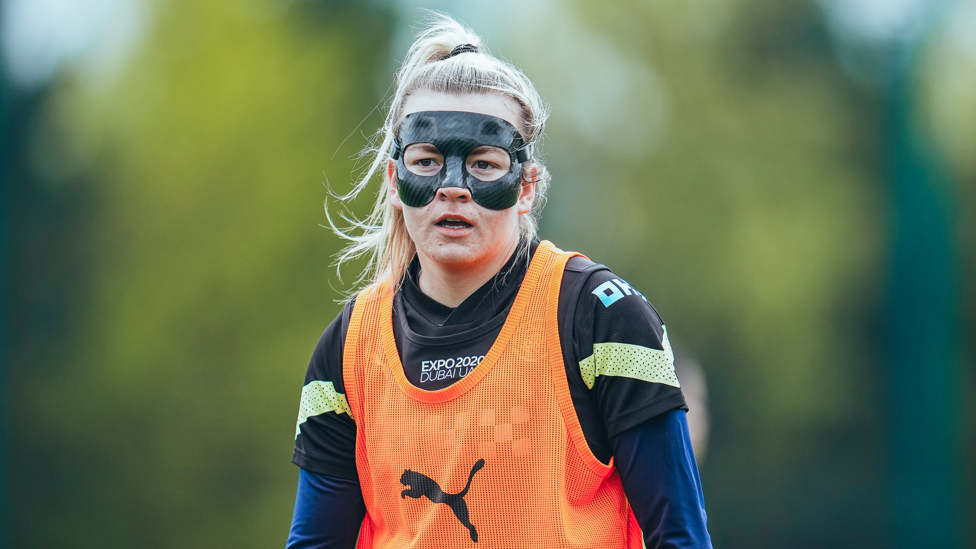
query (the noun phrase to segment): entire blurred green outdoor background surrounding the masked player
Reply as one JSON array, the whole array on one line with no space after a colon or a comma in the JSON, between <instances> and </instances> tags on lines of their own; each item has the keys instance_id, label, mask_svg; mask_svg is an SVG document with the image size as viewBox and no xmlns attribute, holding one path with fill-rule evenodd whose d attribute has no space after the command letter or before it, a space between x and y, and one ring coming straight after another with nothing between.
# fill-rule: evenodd
<instances>
[{"instance_id":1,"label":"entire blurred green outdoor background surrounding the masked player","mask_svg":"<svg viewBox=\"0 0 976 549\"><path fill-rule=\"evenodd\" d=\"M284 545L421 6L701 365L715 547L976 547L976 0L0 0L0 546Z\"/></svg>"}]
</instances>

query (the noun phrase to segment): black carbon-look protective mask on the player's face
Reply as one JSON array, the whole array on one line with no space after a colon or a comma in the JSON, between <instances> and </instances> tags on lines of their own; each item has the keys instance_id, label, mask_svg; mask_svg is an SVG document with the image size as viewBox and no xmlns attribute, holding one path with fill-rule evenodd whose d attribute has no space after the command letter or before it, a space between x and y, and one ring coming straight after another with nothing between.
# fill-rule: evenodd
<instances>
[{"instance_id":1,"label":"black carbon-look protective mask on the player's face","mask_svg":"<svg viewBox=\"0 0 976 549\"><path fill-rule=\"evenodd\" d=\"M444 157L435 175L418 175L404 164L404 151L417 143L429 143ZM497 147L508 154L508 172L492 181L470 173L467 159L478 147ZM397 187L400 200L419 208L430 204L437 189L462 187L489 210L506 210L518 202L522 184L522 164L532 156L532 145L525 144L514 126L494 116L473 112L424 111L408 114L400 124L391 154L397 161Z\"/></svg>"}]
</instances>

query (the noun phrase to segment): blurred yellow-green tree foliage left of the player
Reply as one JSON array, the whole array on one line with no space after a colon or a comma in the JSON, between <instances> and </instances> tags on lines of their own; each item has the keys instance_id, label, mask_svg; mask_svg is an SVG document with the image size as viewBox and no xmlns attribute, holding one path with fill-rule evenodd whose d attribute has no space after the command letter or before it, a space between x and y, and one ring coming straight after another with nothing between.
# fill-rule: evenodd
<instances>
[{"instance_id":1,"label":"blurred yellow-green tree foliage left of the player","mask_svg":"<svg viewBox=\"0 0 976 549\"><path fill-rule=\"evenodd\" d=\"M39 115L34 165L86 200L18 231L78 272L35 262L15 284L58 275L40 284L80 305L13 351L16 547L284 544L304 367L339 310L323 183L351 178L363 140L337 148L382 100L390 25L284 6L157 3L114 81L66 75ZM85 222L31 250L61 214Z\"/></svg>"}]
</instances>

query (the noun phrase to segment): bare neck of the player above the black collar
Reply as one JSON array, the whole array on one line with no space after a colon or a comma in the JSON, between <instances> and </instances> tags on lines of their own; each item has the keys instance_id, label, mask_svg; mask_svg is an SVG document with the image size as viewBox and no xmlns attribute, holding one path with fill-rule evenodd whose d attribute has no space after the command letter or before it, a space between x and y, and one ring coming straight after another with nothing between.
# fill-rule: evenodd
<instances>
[{"instance_id":1,"label":"bare neck of the player above the black collar","mask_svg":"<svg viewBox=\"0 0 976 549\"><path fill-rule=\"evenodd\" d=\"M423 254L418 254L420 261L420 280L417 285L434 301L448 307L457 307L464 302L485 282L505 265L518 248L519 239L516 238L508 246L507 251L492 258L488 264L469 267L466 265L438 263Z\"/></svg>"}]
</instances>

